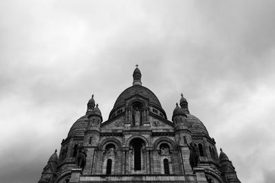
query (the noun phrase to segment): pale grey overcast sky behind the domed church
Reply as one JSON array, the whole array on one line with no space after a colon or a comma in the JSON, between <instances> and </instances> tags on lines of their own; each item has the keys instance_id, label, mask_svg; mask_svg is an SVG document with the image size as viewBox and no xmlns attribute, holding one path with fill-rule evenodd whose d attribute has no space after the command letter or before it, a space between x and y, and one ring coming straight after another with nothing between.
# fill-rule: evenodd
<instances>
[{"instance_id":1,"label":"pale grey overcast sky behind the domed church","mask_svg":"<svg viewBox=\"0 0 275 183\"><path fill-rule=\"evenodd\" d=\"M241 182L275 182L275 1L1 1L0 179L38 182L94 94L183 93Z\"/></svg>"}]
</instances>

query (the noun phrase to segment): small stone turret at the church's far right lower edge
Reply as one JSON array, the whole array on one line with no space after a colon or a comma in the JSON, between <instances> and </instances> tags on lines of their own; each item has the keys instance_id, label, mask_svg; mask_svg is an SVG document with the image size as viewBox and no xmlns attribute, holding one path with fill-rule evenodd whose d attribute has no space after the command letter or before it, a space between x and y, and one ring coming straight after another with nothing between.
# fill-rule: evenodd
<instances>
[{"instance_id":1,"label":"small stone turret at the church's far right lower edge","mask_svg":"<svg viewBox=\"0 0 275 183\"><path fill-rule=\"evenodd\" d=\"M221 175L225 178L226 182L240 182L236 176L235 168L232 162L229 160L228 155L223 152L223 149L220 149L221 153L219 154L219 163L221 164Z\"/></svg>"}]
</instances>

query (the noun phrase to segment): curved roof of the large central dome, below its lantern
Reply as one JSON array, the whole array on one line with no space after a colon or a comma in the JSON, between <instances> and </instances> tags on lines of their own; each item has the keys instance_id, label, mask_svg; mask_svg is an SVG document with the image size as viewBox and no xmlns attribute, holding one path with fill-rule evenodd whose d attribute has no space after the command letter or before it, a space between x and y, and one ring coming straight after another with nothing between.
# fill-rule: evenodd
<instances>
[{"instance_id":1,"label":"curved roof of the large central dome, below its lantern","mask_svg":"<svg viewBox=\"0 0 275 183\"><path fill-rule=\"evenodd\" d=\"M144 98L149 99L149 104L154 105L155 107L158 107L159 109L162 109L162 105L159 103L159 99L157 99L157 96L153 92L151 92L150 89L142 86L142 85L133 85L127 89L125 89L120 96L118 96L118 99L115 101L115 105L113 105L113 108L117 108L120 105L123 105L125 103L126 98L130 98L131 96L139 94L140 96L143 96Z\"/></svg>"}]
</instances>

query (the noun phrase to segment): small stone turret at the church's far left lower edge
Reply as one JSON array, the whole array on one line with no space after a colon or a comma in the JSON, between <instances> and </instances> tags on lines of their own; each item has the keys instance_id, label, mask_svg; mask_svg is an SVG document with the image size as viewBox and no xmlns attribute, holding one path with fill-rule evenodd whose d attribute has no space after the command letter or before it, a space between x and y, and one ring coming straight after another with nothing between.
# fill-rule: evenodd
<instances>
[{"instance_id":1,"label":"small stone turret at the church's far left lower edge","mask_svg":"<svg viewBox=\"0 0 275 183\"><path fill-rule=\"evenodd\" d=\"M54 182L56 178L56 170L57 170L57 163L58 163L58 156L56 152L57 150L54 151L54 153L49 158L47 165L44 167L39 183Z\"/></svg>"}]
</instances>

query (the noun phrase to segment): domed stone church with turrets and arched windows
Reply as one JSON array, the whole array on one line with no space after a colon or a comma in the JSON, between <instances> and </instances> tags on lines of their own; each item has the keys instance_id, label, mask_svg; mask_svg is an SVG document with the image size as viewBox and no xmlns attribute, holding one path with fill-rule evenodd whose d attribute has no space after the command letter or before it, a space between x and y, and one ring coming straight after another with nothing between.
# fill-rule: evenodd
<instances>
[{"instance_id":1,"label":"domed stone church with turrets and arched windows","mask_svg":"<svg viewBox=\"0 0 275 183\"><path fill-rule=\"evenodd\" d=\"M181 94L167 119L157 96L133 71L133 85L115 100L103 121L94 95L86 114L50 156L39 183L45 182L240 182L232 162Z\"/></svg>"}]
</instances>

